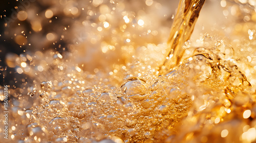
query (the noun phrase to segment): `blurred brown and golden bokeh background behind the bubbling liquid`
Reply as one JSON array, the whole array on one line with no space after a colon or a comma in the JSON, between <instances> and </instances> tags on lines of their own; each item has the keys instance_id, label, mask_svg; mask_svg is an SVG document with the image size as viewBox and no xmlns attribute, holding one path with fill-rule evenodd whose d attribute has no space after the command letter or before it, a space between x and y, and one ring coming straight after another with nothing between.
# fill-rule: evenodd
<instances>
[{"instance_id":1,"label":"blurred brown and golden bokeh background behind the bubbling liquid","mask_svg":"<svg viewBox=\"0 0 256 143\"><path fill-rule=\"evenodd\" d=\"M18 56L31 59L37 51L76 53L79 67L91 73L94 69L110 70L106 69L110 64L127 63L125 59L138 47L166 42L178 3L178 0L2 1L1 85L17 87L20 83L31 83L28 74L17 72L19 66L15 59ZM196 41L205 32L237 41L241 32L236 37L237 29L233 27L244 27L239 22L253 27L255 12L251 11L254 4L254 1L206 1L191 41ZM242 32L244 40L251 40L248 29ZM238 49L243 46L236 42L231 44Z\"/></svg>"}]
</instances>

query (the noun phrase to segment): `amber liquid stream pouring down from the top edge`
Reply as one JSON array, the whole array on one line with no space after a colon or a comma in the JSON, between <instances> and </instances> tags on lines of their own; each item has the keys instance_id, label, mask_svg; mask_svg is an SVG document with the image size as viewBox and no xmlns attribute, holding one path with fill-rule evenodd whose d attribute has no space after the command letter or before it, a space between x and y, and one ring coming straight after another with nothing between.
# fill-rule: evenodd
<instances>
[{"instance_id":1,"label":"amber liquid stream pouring down from the top edge","mask_svg":"<svg viewBox=\"0 0 256 143\"><path fill-rule=\"evenodd\" d=\"M183 44L190 38L204 2L205 0L180 0L167 41L170 51L167 52L166 59L160 66L160 74L164 74L179 65L185 52Z\"/></svg>"}]
</instances>

